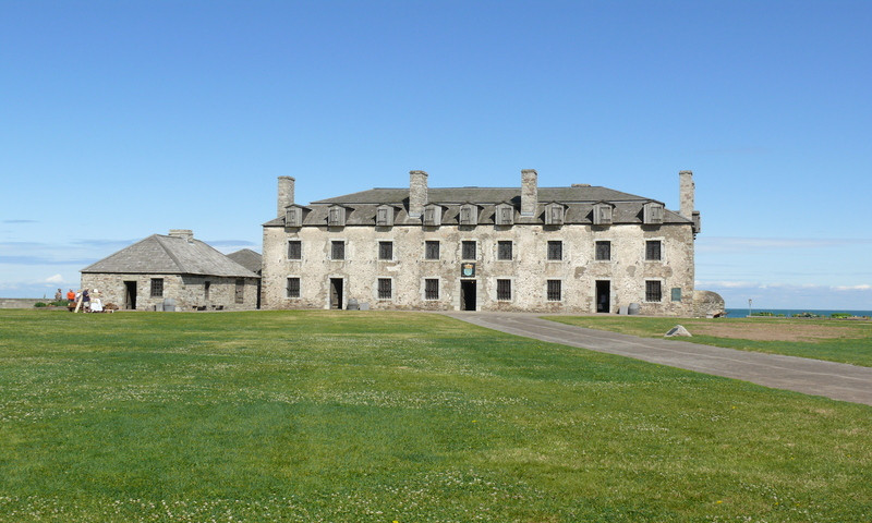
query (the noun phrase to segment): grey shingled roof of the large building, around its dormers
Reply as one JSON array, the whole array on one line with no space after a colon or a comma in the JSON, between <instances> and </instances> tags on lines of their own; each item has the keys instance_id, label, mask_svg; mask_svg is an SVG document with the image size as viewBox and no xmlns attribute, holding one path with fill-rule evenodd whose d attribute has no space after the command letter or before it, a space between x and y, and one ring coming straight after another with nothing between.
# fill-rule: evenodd
<instances>
[{"instance_id":1,"label":"grey shingled roof of the large building, around its dormers","mask_svg":"<svg viewBox=\"0 0 872 523\"><path fill-rule=\"evenodd\" d=\"M545 205L549 202L559 202L567 206L565 223L591 224L593 223L593 205L597 202L608 202L615 205L613 223L641 224L643 221L642 206L647 202L656 202L601 186L538 187L537 196L538 210L535 216L523 218L518 214L521 204L520 187L432 187L427 190L427 200L445 207L441 222L446 226L458 224L460 205L464 203L475 203L481 207L480 224L493 224L496 206L501 203L514 205L516 223L543 223ZM396 226L421 224L420 219L408 216L408 187L372 188L313 202L303 210L303 224L326 226L329 207L342 205L348 209L347 226L374 226L376 209L384 204L397 207L398 211L393 218ZM691 223L691 220L671 210L665 210L663 222ZM284 226L284 217L264 223L264 227L282 226Z\"/></svg>"}]
</instances>

